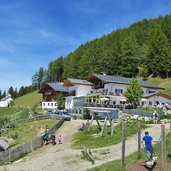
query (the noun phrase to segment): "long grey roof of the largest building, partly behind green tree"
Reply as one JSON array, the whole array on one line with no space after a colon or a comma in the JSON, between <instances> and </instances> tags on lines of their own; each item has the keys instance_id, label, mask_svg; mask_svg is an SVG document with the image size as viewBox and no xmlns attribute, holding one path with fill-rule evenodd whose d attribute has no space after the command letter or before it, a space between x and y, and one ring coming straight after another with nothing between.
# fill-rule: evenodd
<instances>
[{"instance_id":1,"label":"long grey roof of the largest building, partly behind green tree","mask_svg":"<svg viewBox=\"0 0 171 171\"><path fill-rule=\"evenodd\" d=\"M131 81L131 78L120 77L120 76L110 76L110 75L101 75L101 74L93 74L93 76L97 77L100 80L103 80L106 83L130 84ZM138 80L138 83L143 87L163 89L155 84L142 80Z\"/></svg>"}]
</instances>

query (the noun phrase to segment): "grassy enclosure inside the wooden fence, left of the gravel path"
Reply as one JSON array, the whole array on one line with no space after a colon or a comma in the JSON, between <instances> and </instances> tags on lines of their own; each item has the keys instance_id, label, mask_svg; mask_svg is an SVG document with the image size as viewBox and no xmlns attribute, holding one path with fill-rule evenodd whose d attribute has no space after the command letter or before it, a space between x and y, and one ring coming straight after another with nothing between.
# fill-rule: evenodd
<instances>
[{"instance_id":1,"label":"grassy enclosure inside the wooden fence, left of the gravel path","mask_svg":"<svg viewBox=\"0 0 171 171\"><path fill-rule=\"evenodd\" d=\"M44 129L45 126L48 125L50 128L57 122L58 120L56 119L44 119L20 123L15 125L14 129L6 129L6 132L2 134L2 137L7 137L10 139L11 137L18 135L15 141L10 142L10 146L20 145L34 139L37 136L40 136L40 131L38 129L39 127Z\"/></svg>"}]
</instances>

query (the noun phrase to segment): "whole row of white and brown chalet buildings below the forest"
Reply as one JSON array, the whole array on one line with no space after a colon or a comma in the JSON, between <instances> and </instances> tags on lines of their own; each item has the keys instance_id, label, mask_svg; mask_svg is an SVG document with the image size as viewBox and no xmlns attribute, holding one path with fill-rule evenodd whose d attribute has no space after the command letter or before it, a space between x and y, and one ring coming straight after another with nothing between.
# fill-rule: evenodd
<instances>
[{"instance_id":1,"label":"whole row of white and brown chalet buildings below the forest","mask_svg":"<svg viewBox=\"0 0 171 171\"><path fill-rule=\"evenodd\" d=\"M130 85L131 78L92 74L88 81L81 79L68 78L63 85L58 83L47 83L39 92L43 93L42 108L52 108L51 103L55 103L55 97L59 92L65 95L65 109L73 113L82 113L84 106L102 106L114 107L126 103L124 92ZM152 94L159 93L161 87L138 80L142 87L144 97L142 104L154 104L156 99L151 97ZM49 94L49 96L47 96ZM161 94L160 94L161 95ZM49 99L48 99L49 97ZM53 97L53 98L52 98ZM152 100L153 98L153 100ZM169 99L160 97L159 102L169 102ZM45 102L47 105L45 106ZM170 102L169 102L170 103ZM49 104L49 105L48 105ZM44 106L43 106L44 105ZM56 107L56 105L55 105Z\"/></svg>"}]
</instances>

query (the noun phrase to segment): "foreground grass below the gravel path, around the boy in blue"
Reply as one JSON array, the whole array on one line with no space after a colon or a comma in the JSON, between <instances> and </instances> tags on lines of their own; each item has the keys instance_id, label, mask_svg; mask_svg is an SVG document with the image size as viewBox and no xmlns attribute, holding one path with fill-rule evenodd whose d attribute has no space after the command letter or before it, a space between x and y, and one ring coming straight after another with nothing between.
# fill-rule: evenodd
<instances>
[{"instance_id":1,"label":"foreground grass below the gravel path, around the boy in blue","mask_svg":"<svg viewBox=\"0 0 171 171\"><path fill-rule=\"evenodd\" d=\"M171 163L171 148L170 148L170 146L171 146L171 139L170 139L170 134L168 134L167 139L166 139L166 151L167 151L167 161L169 163ZM159 159L161 159L161 146L159 148L160 149L159 149L159 151L157 151L157 155L158 155ZM142 149L141 159L146 160L144 149ZM130 164L136 160L137 160L137 152L135 152L125 158L125 164L126 164L125 169L121 168L121 160L114 160L114 161L108 162L106 164L103 164L101 166L90 169L88 171L126 171L128 164Z\"/></svg>"}]
</instances>

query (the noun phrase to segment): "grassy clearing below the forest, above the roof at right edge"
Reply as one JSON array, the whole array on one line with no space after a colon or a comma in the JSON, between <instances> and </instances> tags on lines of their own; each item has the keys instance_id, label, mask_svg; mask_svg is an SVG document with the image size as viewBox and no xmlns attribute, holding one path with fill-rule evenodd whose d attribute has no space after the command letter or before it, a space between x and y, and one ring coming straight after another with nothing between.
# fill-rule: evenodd
<instances>
[{"instance_id":1,"label":"grassy clearing below the forest, above the roof at right edge","mask_svg":"<svg viewBox=\"0 0 171 171\"><path fill-rule=\"evenodd\" d=\"M165 88L165 90L162 90L162 92L171 95L171 78L168 79L162 79L162 78L148 78L148 82L157 84L160 87Z\"/></svg>"}]
</instances>

